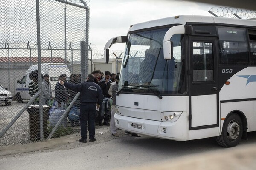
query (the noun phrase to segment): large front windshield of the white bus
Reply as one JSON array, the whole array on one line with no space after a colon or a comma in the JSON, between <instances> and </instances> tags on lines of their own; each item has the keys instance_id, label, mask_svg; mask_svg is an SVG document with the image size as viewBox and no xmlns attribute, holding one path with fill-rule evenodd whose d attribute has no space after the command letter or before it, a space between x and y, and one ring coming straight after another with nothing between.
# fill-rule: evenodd
<instances>
[{"instance_id":1,"label":"large front windshield of the white bus","mask_svg":"<svg viewBox=\"0 0 256 170\"><path fill-rule=\"evenodd\" d=\"M128 35L119 90L143 94L184 93L183 35L176 34L171 39L173 58L163 57L163 38L169 28Z\"/></svg>"}]
</instances>

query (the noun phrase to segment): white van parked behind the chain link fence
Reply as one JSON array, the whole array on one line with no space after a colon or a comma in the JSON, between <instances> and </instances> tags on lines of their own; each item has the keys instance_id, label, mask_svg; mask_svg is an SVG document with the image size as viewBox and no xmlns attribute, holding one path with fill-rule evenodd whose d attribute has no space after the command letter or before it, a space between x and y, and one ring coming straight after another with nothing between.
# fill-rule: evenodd
<instances>
[{"instance_id":1,"label":"white van parked behind the chain link fence","mask_svg":"<svg viewBox=\"0 0 256 170\"><path fill-rule=\"evenodd\" d=\"M52 95L55 96L55 85L58 82L58 77L61 74L67 75L67 81L70 79L70 70L67 65L64 63L45 63L41 64L42 74L49 74L50 83L52 88ZM26 71L25 75L21 80L17 81L15 96L17 97L18 102L23 102L24 99L30 100L31 96L29 95L29 83L31 80L29 79L29 74L38 69L38 65L32 65Z\"/></svg>"}]
</instances>

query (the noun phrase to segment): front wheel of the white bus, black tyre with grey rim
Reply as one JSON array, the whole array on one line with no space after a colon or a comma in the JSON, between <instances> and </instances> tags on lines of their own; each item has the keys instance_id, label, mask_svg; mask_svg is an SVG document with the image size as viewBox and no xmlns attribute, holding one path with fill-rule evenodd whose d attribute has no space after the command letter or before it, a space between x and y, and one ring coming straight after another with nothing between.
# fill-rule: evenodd
<instances>
[{"instance_id":1,"label":"front wheel of the white bus, black tyre with grey rim","mask_svg":"<svg viewBox=\"0 0 256 170\"><path fill-rule=\"evenodd\" d=\"M222 147L234 147L239 144L243 135L243 123L240 116L232 113L225 119L222 133L216 141Z\"/></svg>"}]
</instances>

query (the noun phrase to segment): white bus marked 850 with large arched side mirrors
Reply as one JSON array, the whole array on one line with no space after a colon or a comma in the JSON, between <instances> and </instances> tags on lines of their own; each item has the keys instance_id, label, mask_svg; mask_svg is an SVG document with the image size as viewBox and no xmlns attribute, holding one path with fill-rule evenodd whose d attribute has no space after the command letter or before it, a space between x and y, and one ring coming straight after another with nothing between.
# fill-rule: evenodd
<instances>
[{"instance_id":1,"label":"white bus marked 850 with large arched side mirrors","mask_svg":"<svg viewBox=\"0 0 256 170\"><path fill-rule=\"evenodd\" d=\"M256 21L175 16L130 26L116 93L120 129L236 146L256 130Z\"/></svg>"}]
</instances>

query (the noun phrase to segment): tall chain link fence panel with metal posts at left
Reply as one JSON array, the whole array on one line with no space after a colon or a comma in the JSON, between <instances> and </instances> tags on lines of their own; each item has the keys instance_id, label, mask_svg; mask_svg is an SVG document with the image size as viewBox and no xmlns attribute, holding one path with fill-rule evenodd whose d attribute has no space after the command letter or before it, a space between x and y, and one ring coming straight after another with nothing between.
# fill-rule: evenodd
<instances>
[{"instance_id":1,"label":"tall chain link fence panel with metal posts at left","mask_svg":"<svg viewBox=\"0 0 256 170\"><path fill-rule=\"evenodd\" d=\"M88 20L82 1L0 1L0 146L80 131L79 94L58 81L87 74Z\"/></svg>"}]
</instances>

